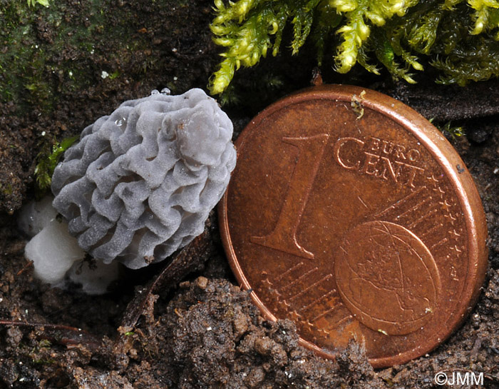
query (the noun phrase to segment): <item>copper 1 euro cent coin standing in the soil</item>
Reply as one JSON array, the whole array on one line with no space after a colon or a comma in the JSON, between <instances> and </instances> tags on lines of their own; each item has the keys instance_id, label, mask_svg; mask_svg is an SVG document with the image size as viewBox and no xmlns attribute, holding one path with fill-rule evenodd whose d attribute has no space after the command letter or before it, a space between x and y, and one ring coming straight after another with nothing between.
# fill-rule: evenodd
<instances>
[{"instance_id":1,"label":"copper 1 euro cent coin standing in the soil","mask_svg":"<svg viewBox=\"0 0 499 389\"><path fill-rule=\"evenodd\" d=\"M254 118L220 205L232 270L270 320L334 357L354 338L374 367L427 353L485 276L483 207L441 133L403 103L320 86Z\"/></svg>"}]
</instances>

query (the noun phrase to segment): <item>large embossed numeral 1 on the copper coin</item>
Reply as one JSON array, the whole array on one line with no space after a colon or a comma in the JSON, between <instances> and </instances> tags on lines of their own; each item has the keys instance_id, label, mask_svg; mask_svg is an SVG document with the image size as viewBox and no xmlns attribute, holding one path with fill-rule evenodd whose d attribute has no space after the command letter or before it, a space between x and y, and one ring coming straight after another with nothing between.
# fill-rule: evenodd
<instances>
[{"instance_id":1,"label":"large embossed numeral 1 on the copper coin","mask_svg":"<svg viewBox=\"0 0 499 389\"><path fill-rule=\"evenodd\" d=\"M284 198L274 230L266 236L252 236L249 241L294 256L314 258L314 253L307 251L297 242L297 229L328 139L327 133L299 138L282 138L284 143L299 148L297 164L294 166L286 198Z\"/></svg>"}]
</instances>

